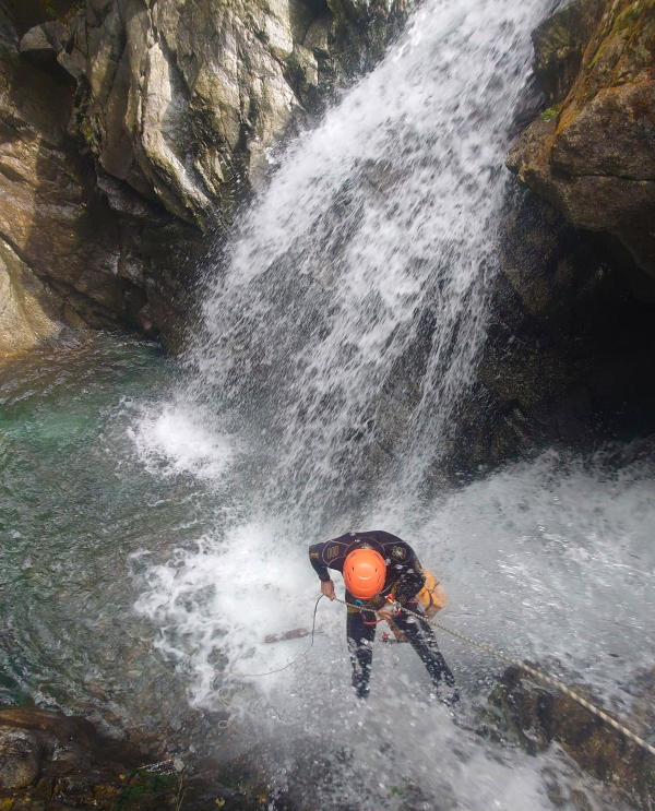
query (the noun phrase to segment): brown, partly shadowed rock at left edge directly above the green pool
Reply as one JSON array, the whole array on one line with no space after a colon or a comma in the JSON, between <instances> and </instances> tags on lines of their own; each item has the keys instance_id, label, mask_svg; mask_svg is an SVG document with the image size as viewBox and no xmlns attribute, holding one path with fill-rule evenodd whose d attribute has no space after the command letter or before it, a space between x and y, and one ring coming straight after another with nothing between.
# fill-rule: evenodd
<instances>
[{"instance_id":1,"label":"brown, partly shadowed rock at left edge directly above the green pool","mask_svg":"<svg viewBox=\"0 0 655 811\"><path fill-rule=\"evenodd\" d=\"M152 205L142 203L138 214L111 208L93 166L67 134L70 77L56 64L45 71L23 59L15 32L13 45L0 47L0 276L7 294L0 355L56 337L63 325L152 335L160 320L171 325L172 339L175 303L170 295L158 296L158 285L171 265L184 272L165 243L171 230L176 241L184 230ZM184 297L176 298L183 308Z\"/></svg>"}]
</instances>

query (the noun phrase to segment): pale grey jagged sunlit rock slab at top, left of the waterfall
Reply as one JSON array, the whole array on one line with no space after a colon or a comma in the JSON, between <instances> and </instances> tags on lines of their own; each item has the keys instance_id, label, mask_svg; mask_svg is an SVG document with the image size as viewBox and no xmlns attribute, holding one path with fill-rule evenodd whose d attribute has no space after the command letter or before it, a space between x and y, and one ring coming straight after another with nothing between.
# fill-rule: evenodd
<instances>
[{"instance_id":1,"label":"pale grey jagged sunlit rock slab at top, left of the waterfall","mask_svg":"<svg viewBox=\"0 0 655 811\"><path fill-rule=\"evenodd\" d=\"M344 46L364 58L348 33L374 40L388 19L381 2L90 0L58 58L87 82L79 123L105 171L206 226L261 180Z\"/></svg>"}]
</instances>

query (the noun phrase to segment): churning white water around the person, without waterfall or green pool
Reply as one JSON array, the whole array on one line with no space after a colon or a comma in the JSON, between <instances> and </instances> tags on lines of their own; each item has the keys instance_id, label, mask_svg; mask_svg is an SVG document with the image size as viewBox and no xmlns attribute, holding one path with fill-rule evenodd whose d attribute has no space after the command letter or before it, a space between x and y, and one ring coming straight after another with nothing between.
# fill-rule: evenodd
<instances>
[{"instance_id":1,"label":"churning white water around the person, without waterfall or green pool","mask_svg":"<svg viewBox=\"0 0 655 811\"><path fill-rule=\"evenodd\" d=\"M648 465L612 474L551 452L421 513L388 503L365 526L404 532L439 573L450 596L440 621L592 684L624 713L626 685L652 667L655 649L652 482ZM266 644L270 633L310 628L318 584L305 540L273 521L233 526L221 545L206 539L150 569L140 604L167 629L160 649L190 673L193 701L216 708L228 697L238 739L258 741L252 756L279 791L311 790L321 808L441 808L446 798L446 808L538 809L551 808L548 772L586 788L592 807L619 807L557 749L532 759L454 727L408 646L376 643L361 706L349 688L343 606L321 601L308 656L307 639ZM484 701L503 665L438 636L468 707L464 727L475 725L471 701Z\"/></svg>"}]
</instances>

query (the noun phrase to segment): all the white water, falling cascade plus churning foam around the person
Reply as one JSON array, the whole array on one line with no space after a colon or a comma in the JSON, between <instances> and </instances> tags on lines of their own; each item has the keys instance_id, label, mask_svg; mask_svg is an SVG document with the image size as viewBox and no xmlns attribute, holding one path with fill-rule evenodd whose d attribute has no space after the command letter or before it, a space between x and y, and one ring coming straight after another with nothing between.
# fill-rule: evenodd
<instances>
[{"instance_id":1,"label":"all the white water, falling cascade plus churning foam around the person","mask_svg":"<svg viewBox=\"0 0 655 811\"><path fill-rule=\"evenodd\" d=\"M357 521L406 537L448 584L452 623L555 657L606 695L628 656L630 672L647 664L655 569L642 526L655 511L641 468L606 480L546 454L429 505L415 490L485 337L508 133L546 4L428 0L415 13L278 158L210 273L184 384L134 429L153 469L202 478L218 504L193 548L135 559L139 608L189 673L191 701L228 702L230 746L257 735L274 786L311 787L315 808L549 808L540 770L568 768L454 728L406 651L377 651L368 707L356 706L334 606L320 606L325 633L307 659L253 676L305 645L263 640L309 622L318 533ZM620 645L611 613L598 619L608 598ZM443 647L471 694L498 672Z\"/></svg>"}]
</instances>

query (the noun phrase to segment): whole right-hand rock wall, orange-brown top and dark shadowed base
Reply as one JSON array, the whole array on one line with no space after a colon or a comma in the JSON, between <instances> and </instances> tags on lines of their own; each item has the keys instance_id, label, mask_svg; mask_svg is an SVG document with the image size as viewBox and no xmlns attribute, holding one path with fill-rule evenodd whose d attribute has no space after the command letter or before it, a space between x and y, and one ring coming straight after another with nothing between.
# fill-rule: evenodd
<instances>
[{"instance_id":1,"label":"whole right-hand rock wall, orange-brown top and dark shadowed base","mask_svg":"<svg viewBox=\"0 0 655 811\"><path fill-rule=\"evenodd\" d=\"M655 3L574 0L534 33L547 109L509 156L479 375L446 467L655 432Z\"/></svg>"}]
</instances>

